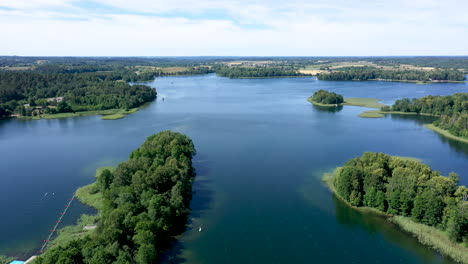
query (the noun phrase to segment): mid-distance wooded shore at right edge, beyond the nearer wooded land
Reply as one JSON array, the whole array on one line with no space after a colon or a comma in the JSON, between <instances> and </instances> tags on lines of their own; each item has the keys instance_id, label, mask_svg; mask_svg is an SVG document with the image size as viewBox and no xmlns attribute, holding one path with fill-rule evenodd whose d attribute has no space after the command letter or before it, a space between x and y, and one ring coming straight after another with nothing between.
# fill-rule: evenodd
<instances>
[{"instance_id":1,"label":"mid-distance wooded shore at right edge, beyond the nearer wooded land","mask_svg":"<svg viewBox=\"0 0 468 264\"><path fill-rule=\"evenodd\" d=\"M382 111L414 112L440 116L434 125L455 136L468 138L468 93L448 96L425 96L419 99L403 98Z\"/></svg>"}]
</instances>

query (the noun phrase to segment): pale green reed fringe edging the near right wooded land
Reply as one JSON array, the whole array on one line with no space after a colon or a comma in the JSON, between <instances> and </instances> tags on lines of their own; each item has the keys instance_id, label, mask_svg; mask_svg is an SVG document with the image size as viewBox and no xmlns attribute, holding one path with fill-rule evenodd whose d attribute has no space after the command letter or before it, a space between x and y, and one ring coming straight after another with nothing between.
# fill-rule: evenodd
<instances>
[{"instance_id":1,"label":"pale green reed fringe edging the near right wooded land","mask_svg":"<svg viewBox=\"0 0 468 264\"><path fill-rule=\"evenodd\" d=\"M365 213L373 213L386 217L387 221L395 223L401 230L411 234L418 241L434 249L445 256L448 256L459 263L468 263L468 248L461 244L452 242L448 236L441 230L427 226L424 224L416 223L409 217L393 216L374 208L369 207L356 207L344 200L337 192L333 185L335 175L339 172L341 167L337 167L333 172L325 173L322 177L323 182L328 189L343 201L347 206Z\"/></svg>"}]
</instances>

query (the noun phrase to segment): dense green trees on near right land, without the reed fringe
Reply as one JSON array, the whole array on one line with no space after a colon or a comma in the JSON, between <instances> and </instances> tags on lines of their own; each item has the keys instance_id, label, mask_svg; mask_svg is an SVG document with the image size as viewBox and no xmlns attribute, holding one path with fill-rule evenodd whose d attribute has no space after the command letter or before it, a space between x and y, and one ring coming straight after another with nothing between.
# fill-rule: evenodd
<instances>
[{"instance_id":1,"label":"dense green trees on near right land, without the reed fringe","mask_svg":"<svg viewBox=\"0 0 468 264\"><path fill-rule=\"evenodd\" d=\"M456 173L445 177L418 161L366 152L346 162L333 185L351 205L411 217L468 242L468 189Z\"/></svg>"}]
</instances>

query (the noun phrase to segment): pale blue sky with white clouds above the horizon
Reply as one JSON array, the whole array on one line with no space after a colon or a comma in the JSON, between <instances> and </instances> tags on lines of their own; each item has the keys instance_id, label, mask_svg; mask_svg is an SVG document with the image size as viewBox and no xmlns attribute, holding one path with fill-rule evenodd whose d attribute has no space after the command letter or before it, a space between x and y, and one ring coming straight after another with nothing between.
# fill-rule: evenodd
<instances>
[{"instance_id":1,"label":"pale blue sky with white clouds above the horizon","mask_svg":"<svg viewBox=\"0 0 468 264\"><path fill-rule=\"evenodd\" d=\"M0 55L468 55L467 0L0 0Z\"/></svg>"}]
</instances>

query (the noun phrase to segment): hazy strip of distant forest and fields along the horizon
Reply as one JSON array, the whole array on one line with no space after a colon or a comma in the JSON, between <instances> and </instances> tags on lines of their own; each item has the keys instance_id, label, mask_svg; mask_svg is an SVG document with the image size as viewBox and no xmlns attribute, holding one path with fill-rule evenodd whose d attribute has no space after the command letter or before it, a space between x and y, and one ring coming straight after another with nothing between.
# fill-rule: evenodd
<instances>
[{"instance_id":1,"label":"hazy strip of distant forest and fields along the horizon","mask_svg":"<svg viewBox=\"0 0 468 264\"><path fill-rule=\"evenodd\" d=\"M230 61L274 61L277 63L305 66L320 65L330 62L358 62L368 61L382 66L410 64L420 67L435 67L443 69L467 69L468 56L375 56L375 57L228 57L228 56L199 56L199 57L20 57L0 56L0 67L29 66L37 61L64 65L120 65L120 66L201 66Z\"/></svg>"}]
</instances>

